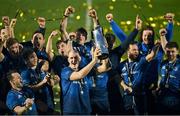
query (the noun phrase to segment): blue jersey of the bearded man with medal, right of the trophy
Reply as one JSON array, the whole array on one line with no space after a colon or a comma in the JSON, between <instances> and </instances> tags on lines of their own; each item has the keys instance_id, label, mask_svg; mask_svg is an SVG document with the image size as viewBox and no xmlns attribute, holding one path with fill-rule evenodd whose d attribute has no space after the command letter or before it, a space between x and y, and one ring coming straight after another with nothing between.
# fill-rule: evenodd
<instances>
[{"instance_id":1,"label":"blue jersey of the bearded man with medal, right of the trophy","mask_svg":"<svg viewBox=\"0 0 180 116\"><path fill-rule=\"evenodd\" d=\"M145 57L140 58L139 61L127 62L124 61L120 63L119 73L128 86L132 86L133 92L136 94L142 92L143 83L142 80L144 77L144 72L147 69L148 62Z\"/></svg>"}]
</instances>

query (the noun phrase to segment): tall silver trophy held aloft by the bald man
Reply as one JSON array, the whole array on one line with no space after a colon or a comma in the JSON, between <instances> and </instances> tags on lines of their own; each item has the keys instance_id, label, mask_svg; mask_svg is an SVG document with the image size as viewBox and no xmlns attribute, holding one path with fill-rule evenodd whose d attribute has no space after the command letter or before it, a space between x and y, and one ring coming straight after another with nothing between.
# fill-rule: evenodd
<instances>
[{"instance_id":1,"label":"tall silver trophy held aloft by the bald man","mask_svg":"<svg viewBox=\"0 0 180 116\"><path fill-rule=\"evenodd\" d=\"M94 39L95 39L95 45L97 48L101 50L101 55L98 57L99 59L106 59L109 55L108 49L107 49L107 42L106 39L103 36L102 28L99 26L93 31Z\"/></svg>"}]
</instances>

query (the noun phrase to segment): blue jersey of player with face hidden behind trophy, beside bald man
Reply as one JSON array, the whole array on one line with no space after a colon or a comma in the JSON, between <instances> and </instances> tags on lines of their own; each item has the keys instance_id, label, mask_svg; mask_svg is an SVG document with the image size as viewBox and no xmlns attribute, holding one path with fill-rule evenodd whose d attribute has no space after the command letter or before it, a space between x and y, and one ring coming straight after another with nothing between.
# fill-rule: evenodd
<instances>
[{"instance_id":1,"label":"blue jersey of player with face hidden behind trophy, beside bald man","mask_svg":"<svg viewBox=\"0 0 180 116\"><path fill-rule=\"evenodd\" d=\"M90 100L93 110L99 109L94 113L107 113L110 111L108 90L107 90L108 74L107 72L94 75L91 78ZM96 109L96 110L97 110Z\"/></svg>"}]
</instances>

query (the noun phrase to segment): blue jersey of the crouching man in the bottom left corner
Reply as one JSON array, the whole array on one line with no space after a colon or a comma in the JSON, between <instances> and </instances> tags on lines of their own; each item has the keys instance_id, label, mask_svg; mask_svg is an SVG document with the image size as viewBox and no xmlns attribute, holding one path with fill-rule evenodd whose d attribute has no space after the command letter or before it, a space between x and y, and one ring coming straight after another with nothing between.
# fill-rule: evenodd
<instances>
[{"instance_id":1,"label":"blue jersey of the crouching man in the bottom left corner","mask_svg":"<svg viewBox=\"0 0 180 116\"><path fill-rule=\"evenodd\" d=\"M8 92L6 104L8 108L13 112L16 106L23 107L27 98L34 98L33 92L30 89L23 88L21 91L11 89ZM23 113L23 115L37 115L35 103L33 103L32 106Z\"/></svg>"}]
</instances>

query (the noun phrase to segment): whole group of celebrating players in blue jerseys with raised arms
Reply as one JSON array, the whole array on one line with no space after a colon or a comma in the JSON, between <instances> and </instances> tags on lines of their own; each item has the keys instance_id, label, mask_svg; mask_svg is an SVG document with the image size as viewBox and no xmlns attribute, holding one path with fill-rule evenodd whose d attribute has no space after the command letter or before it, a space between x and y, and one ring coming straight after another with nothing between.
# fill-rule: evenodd
<instances>
[{"instance_id":1,"label":"whole group of celebrating players in blue jerseys with raised arms","mask_svg":"<svg viewBox=\"0 0 180 116\"><path fill-rule=\"evenodd\" d=\"M159 30L156 41L153 27L143 26L138 15L134 29L126 35L113 15L107 14L113 33L102 33L109 52L102 58L93 33L103 28L96 10L89 10L94 28L88 42L83 27L69 33L66 30L68 17L74 12L71 6L65 9L60 29L52 31L47 42L45 18L38 18L39 28L27 42L15 38L16 19L2 18L1 115L180 114L179 46L172 42L174 14L165 15L167 26ZM59 33L56 54L53 39ZM139 41L135 41L138 34ZM114 47L116 37L121 43ZM121 61L125 53L127 59ZM56 84L61 89L61 112L54 106L52 88Z\"/></svg>"}]
</instances>

